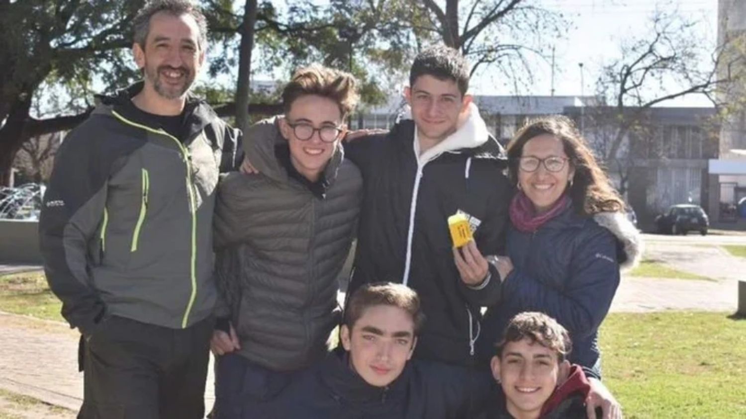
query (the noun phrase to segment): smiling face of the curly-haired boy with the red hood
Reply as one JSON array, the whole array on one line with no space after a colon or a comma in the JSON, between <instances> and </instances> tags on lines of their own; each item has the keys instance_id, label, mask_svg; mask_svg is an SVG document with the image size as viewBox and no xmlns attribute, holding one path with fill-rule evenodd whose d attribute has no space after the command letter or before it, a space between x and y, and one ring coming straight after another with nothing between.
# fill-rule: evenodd
<instances>
[{"instance_id":1,"label":"smiling face of the curly-haired boy with the red hood","mask_svg":"<svg viewBox=\"0 0 746 419\"><path fill-rule=\"evenodd\" d=\"M545 401L570 368L557 352L527 338L507 342L502 358L492 358L492 376L501 382L508 412L518 419L539 418Z\"/></svg>"}]
</instances>

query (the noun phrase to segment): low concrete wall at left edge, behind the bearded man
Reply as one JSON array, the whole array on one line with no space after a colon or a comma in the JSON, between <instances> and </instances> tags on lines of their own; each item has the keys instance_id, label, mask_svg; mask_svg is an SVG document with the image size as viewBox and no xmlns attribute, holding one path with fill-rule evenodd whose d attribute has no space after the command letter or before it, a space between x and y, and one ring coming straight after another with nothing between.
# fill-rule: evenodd
<instances>
[{"instance_id":1,"label":"low concrete wall at left edge, behind the bearded man","mask_svg":"<svg viewBox=\"0 0 746 419\"><path fill-rule=\"evenodd\" d=\"M0 262L42 263L37 221L0 220Z\"/></svg>"}]
</instances>

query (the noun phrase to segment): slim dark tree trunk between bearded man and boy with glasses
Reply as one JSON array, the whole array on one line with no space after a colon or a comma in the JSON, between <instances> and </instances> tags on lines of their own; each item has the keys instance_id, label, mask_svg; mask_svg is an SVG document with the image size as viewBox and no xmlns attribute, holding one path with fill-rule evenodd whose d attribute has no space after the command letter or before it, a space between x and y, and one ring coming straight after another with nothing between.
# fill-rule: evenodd
<instances>
[{"instance_id":1,"label":"slim dark tree trunk between bearded man and boy with glasses","mask_svg":"<svg viewBox=\"0 0 746 419\"><path fill-rule=\"evenodd\" d=\"M257 22L257 0L246 0L241 24L241 46L236 84L236 125L246 132L250 125L248 102L251 92L251 50L254 48L254 24Z\"/></svg>"}]
</instances>

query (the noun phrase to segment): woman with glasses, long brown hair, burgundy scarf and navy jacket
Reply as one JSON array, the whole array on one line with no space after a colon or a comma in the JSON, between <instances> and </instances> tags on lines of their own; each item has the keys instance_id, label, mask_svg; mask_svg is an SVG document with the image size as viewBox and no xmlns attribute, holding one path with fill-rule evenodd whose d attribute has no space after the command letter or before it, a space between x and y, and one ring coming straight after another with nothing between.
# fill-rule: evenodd
<instances>
[{"instance_id":1,"label":"woman with glasses, long brown hair, burgundy scarf and navy jacket","mask_svg":"<svg viewBox=\"0 0 746 419\"><path fill-rule=\"evenodd\" d=\"M519 312L544 312L572 338L569 361L591 380L588 417L621 417L601 384L598 327L619 285L619 269L639 260L639 232L573 122L551 116L530 122L508 145L509 174L518 193L510 204L508 256L495 264L503 300L488 309L481 353L489 359ZM604 399L603 401L601 399Z\"/></svg>"}]
</instances>

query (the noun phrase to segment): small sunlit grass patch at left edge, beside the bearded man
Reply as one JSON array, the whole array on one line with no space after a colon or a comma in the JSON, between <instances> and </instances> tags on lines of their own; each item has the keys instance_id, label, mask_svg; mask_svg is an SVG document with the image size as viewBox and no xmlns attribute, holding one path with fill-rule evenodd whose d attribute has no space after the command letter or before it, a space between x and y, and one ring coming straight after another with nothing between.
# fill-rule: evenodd
<instances>
[{"instance_id":1,"label":"small sunlit grass patch at left edge, beside the bearded man","mask_svg":"<svg viewBox=\"0 0 746 419\"><path fill-rule=\"evenodd\" d=\"M63 321L61 306L49 290L43 271L0 277L1 311Z\"/></svg>"}]
</instances>

